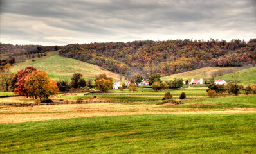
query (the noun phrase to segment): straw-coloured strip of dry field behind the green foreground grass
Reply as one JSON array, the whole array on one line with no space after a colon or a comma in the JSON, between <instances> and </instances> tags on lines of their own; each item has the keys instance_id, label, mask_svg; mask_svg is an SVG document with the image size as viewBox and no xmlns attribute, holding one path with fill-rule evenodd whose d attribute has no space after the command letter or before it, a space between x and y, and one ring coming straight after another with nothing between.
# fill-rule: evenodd
<instances>
[{"instance_id":1,"label":"straw-coloured strip of dry field behind the green foreground grass","mask_svg":"<svg viewBox=\"0 0 256 154\"><path fill-rule=\"evenodd\" d=\"M0 108L0 124L77 117L118 116L137 114L256 113L256 108L232 108L232 110L200 110L187 108L157 108L159 106L160 105L123 105L111 103L43 105L34 107L2 106L2 108Z\"/></svg>"}]
</instances>

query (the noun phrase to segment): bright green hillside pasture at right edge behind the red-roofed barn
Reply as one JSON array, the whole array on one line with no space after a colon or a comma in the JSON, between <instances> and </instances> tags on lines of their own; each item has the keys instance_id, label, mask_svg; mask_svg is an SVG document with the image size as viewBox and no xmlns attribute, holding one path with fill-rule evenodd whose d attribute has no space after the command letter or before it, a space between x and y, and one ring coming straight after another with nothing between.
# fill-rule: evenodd
<instances>
[{"instance_id":1,"label":"bright green hillside pasture at right edge behind the red-roofed barn","mask_svg":"<svg viewBox=\"0 0 256 154\"><path fill-rule=\"evenodd\" d=\"M241 71L238 71L238 79L242 83L254 83L256 84L256 67L252 67L249 69L243 69ZM215 78L215 80L221 79L221 80L233 80L232 74L226 74L224 76L219 76Z\"/></svg>"}]
</instances>

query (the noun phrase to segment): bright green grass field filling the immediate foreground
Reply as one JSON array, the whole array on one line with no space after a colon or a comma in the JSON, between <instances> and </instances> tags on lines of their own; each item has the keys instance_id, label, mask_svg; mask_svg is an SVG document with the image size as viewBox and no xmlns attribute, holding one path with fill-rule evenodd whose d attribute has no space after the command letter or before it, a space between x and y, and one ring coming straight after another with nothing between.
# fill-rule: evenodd
<instances>
[{"instance_id":1,"label":"bright green grass field filling the immediate foreground","mask_svg":"<svg viewBox=\"0 0 256 154\"><path fill-rule=\"evenodd\" d=\"M2 153L255 153L256 114L87 117L0 125Z\"/></svg>"}]
</instances>

